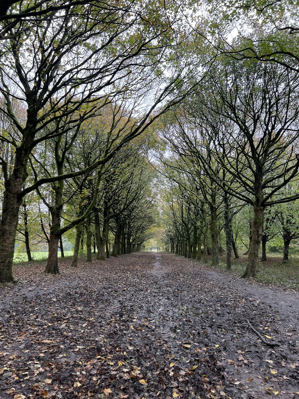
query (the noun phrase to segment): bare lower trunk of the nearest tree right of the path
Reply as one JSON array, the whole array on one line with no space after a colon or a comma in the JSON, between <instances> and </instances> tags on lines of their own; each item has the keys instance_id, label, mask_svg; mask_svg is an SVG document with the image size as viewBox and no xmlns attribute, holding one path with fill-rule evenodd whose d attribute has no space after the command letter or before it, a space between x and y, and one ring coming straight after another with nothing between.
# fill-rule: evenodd
<instances>
[{"instance_id":1,"label":"bare lower trunk of the nearest tree right of the path","mask_svg":"<svg viewBox=\"0 0 299 399\"><path fill-rule=\"evenodd\" d=\"M256 269L258 267L258 255L260 245L263 236L263 225L264 225L264 209L260 206L254 207L254 215L252 218L252 239L248 255L248 263L246 271L242 277L255 277Z\"/></svg>"}]
</instances>

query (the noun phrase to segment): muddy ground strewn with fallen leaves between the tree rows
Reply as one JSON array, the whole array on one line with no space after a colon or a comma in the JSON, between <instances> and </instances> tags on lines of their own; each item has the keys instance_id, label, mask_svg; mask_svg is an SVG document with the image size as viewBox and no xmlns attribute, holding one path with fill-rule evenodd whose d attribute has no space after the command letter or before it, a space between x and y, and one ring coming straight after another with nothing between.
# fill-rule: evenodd
<instances>
[{"instance_id":1,"label":"muddy ground strewn with fallen leaves between the tree rows","mask_svg":"<svg viewBox=\"0 0 299 399\"><path fill-rule=\"evenodd\" d=\"M298 292L159 253L59 265L0 287L1 399L299 398Z\"/></svg>"}]
</instances>

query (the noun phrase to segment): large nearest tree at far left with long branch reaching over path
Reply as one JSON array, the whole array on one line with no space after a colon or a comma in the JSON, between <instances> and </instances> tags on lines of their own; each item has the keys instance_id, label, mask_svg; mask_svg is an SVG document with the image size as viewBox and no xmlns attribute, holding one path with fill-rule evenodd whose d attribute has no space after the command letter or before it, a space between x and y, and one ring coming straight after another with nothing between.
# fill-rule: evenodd
<instances>
[{"instance_id":1,"label":"large nearest tree at far left with long branch reaching over path","mask_svg":"<svg viewBox=\"0 0 299 399\"><path fill-rule=\"evenodd\" d=\"M0 113L10 120L10 128L0 139L15 150L13 171L5 179L0 281L13 279L12 259L22 198L42 184L79 176L104 165L193 86L186 50L175 42L180 26L180 6L175 3L164 7L151 2L128 2L123 6L74 2L64 12L51 8L54 3L43 2L47 14L33 14L34 30L30 18L16 18L13 22L5 18L2 22L3 32L10 34L4 36L0 53L0 91L4 98ZM38 4L33 2L33 8ZM21 11L26 6L22 2ZM172 22L167 17L169 8ZM185 31L183 34L186 38ZM16 101L21 101L27 110L24 121L14 111ZM35 146L58 137L70 126L75 129L82 119L99 115L101 108L111 102L120 102L127 119L135 123L119 131L100 160L85 170L37 179L22 190ZM62 122L52 131L51 126L58 121ZM2 162L2 167L7 165ZM81 215L77 223L85 217L87 214Z\"/></svg>"}]
</instances>

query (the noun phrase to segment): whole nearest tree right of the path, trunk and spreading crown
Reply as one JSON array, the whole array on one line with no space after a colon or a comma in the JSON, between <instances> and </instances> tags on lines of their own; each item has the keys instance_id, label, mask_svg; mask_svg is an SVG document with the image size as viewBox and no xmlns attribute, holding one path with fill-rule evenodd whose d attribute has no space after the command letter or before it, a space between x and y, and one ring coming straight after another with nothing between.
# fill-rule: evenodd
<instances>
[{"instance_id":1,"label":"whole nearest tree right of the path, trunk and spreading crown","mask_svg":"<svg viewBox=\"0 0 299 399\"><path fill-rule=\"evenodd\" d=\"M231 123L215 131L215 154L234 177L226 189L253 207L252 240L244 277L254 277L263 234L264 209L293 201L298 194L279 198L278 192L295 178L299 154L298 76L280 65L224 61L212 77L215 111ZM224 124L228 126L228 124ZM243 191L238 190L238 186Z\"/></svg>"}]
</instances>

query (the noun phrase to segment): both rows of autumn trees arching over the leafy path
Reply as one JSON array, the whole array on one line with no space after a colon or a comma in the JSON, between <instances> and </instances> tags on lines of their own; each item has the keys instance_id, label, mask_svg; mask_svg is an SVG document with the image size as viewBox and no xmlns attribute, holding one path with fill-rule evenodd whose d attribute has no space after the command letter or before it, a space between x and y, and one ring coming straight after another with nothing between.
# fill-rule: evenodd
<instances>
[{"instance_id":1,"label":"both rows of autumn trees arching over the leafy path","mask_svg":"<svg viewBox=\"0 0 299 399\"><path fill-rule=\"evenodd\" d=\"M241 241L254 277L260 247L266 260L281 235L288 260L299 238L292 2L33 0L0 14L0 281L13 280L16 246L30 260L46 245L47 273L65 239L73 267L83 248L89 262L96 249L101 260L142 249L159 219L157 169L171 251L211 251L217 265L225 250L229 270Z\"/></svg>"}]
</instances>

